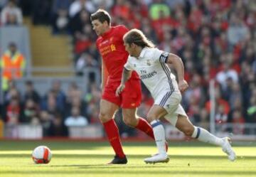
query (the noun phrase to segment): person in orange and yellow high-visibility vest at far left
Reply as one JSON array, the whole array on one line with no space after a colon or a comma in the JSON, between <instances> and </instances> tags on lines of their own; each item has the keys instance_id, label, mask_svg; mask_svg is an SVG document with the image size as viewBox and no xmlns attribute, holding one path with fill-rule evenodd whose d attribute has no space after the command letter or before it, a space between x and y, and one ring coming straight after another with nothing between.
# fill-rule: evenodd
<instances>
[{"instance_id":1,"label":"person in orange and yellow high-visibility vest at far left","mask_svg":"<svg viewBox=\"0 0 256 177\"><path fill-rule=\"evenodd\" d=\"M26 59L17 49L15 43L9 44L9 49L1 56L0 68L3 72L2 89L8 90L9 80L15 80L23 77L26 66Z\"/></svg>"}]
</instances>

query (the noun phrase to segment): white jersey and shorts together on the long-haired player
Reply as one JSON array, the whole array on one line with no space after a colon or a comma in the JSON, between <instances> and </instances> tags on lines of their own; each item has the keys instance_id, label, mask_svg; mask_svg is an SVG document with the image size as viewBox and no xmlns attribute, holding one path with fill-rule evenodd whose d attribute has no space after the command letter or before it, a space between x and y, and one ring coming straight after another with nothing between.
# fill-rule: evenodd
<instances>
[{"instance_id":1,"label":"white jersey and shorts together on the long-haired player","mask_svg":"<svg viewBox=\"0 0 256 177\"><path fill-rule=\"evenodd\" d=\"M176 126L178 114L187 117L181 106L181 92L178 83L166 64L168 53L157 48L143 48L139 58L129 55L124 68L135 70L141 77L154 98L154 104L164 107L168 114L164 116L172 125Z\"/></svg>"}]
</instances>

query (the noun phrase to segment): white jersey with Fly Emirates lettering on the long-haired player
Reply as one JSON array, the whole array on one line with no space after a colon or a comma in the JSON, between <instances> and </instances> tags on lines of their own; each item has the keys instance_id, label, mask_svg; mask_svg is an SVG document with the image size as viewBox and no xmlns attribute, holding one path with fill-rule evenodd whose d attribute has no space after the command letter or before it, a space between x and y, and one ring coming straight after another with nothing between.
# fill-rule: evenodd
<instances>
[{"instance_id":1,"label":"white jersey with Fly Emirates lettering on the long-haired player","mask_svg":"<svg viewBox=\"0 0 256 177\"><path fill-rule=\"evenodd\" d=\"M176 82L175 76L166 64L168 55L169 53L158 48L143 48L139 58L129 55L124 65L127 70L135 70L138 73L154 100L163 94L167 99L174 91L179 92L173 84Z\"/></svg>"}]
</instances>

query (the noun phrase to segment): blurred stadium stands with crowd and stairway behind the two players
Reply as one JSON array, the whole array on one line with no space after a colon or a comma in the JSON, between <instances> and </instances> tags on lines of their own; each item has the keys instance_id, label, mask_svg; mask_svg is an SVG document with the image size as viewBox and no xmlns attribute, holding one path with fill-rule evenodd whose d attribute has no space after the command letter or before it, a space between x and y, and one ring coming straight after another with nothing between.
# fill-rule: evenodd
<instances>
[{"instance_id":1,"label":"blurred stadium stands with crowd and stairway behind the two players","mask_svg":"<svg viewBox=\"0 0 256 177\"><path fill-rule=\"evenodd\" d=\"M256 140L256 1L0 0L0 137L105 137L98 119L101 59L90 14L139 28L181 56L190 87L182 105L218 136ZM138 114L153 100L143 88ZM116 122L123 138L146 139ZM166 124L167 139L184 139Z\"/></svg>"}]
</instances>

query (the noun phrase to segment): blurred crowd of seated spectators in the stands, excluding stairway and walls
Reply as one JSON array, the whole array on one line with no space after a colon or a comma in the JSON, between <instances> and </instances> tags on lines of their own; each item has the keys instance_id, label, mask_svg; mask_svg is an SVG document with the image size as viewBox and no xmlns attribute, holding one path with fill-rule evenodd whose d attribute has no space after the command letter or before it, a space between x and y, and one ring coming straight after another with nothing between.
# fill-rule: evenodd
<instances>
[{"instance_id":1,"label":"blurred crowd of seated spectators in the stands, excluding stairway and walls","mask_svg":"<svg viewBox=\"0 0 256 177\"><path fill-rule=\"evenodd\" d=\"M253 0L34 0L16 1L23 15L31 16L35 25L52 26L53 35L73 36L74 67L79 75L90 66L100 70L100 55L92 31L90 14L98 8L112 16L112 25L139 28L159 48L181 56L185 77L190 85L183 94L183 107L193 124L209 128L209 82L215 80L215 122L234 123L233 134L245 129L235 124L256 123L256 1ZM1 5L1 4L0 4ZM6 23L1 6L1 25ZM7 10L6 10L7 9ZM18 11L18 10L17 10ZM14 82L4 95L1 117L6 124L30 122L43 124L45 136L66 136L68 126L98 123L101 91L90 82L90 92L82 95L75 83L68 92L60 81L53 82L46 95L39 95L32 82L26 82L21 95ZM153 104L143 87L139 114L145 117ZM124 126L122 132L134 135Z\"/></svg>"}]
</instances>

